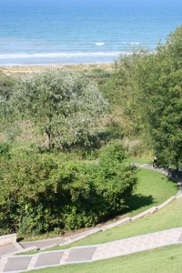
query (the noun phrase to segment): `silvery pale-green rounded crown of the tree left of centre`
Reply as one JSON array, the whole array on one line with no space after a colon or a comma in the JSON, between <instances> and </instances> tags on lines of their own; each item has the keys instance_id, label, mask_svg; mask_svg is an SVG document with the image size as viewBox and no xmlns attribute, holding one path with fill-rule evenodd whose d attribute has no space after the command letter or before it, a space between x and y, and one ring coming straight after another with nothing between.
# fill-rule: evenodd
<instances>
[{"instance_id":1,"label":"silvery pale-green rounded crown of the tree left of centre","mask_svg":"<svg viewBox=\"0 0 182 273\"><path fill-rule=\"evenodd\" d=\"M10 104L46 134L47 147L86 141L107 107L96 83L53 68L19 78Z\"/></svg>"}]
</instances>

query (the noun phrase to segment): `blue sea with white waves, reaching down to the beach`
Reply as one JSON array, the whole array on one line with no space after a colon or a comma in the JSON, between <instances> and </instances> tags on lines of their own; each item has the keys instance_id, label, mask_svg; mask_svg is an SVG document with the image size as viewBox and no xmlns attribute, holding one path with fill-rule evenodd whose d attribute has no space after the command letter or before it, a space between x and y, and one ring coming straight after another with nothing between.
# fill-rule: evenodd
<instances>
[{"instance_id":1,"label":"blue sea with white waves, reaching down to the beach","mask_svg":"<svg viewBox=\"0 0 182 273\"><path fill-rule=\"evenodd\" d=\"M0 0L0 65L109 63L179 25L181 0Z\"/></svg>"}]
</instances>

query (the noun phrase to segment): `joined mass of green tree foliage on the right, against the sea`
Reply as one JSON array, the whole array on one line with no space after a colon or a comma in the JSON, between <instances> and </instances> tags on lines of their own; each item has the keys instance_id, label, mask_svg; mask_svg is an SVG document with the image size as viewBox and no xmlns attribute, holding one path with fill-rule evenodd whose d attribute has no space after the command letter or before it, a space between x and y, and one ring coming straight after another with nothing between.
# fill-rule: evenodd
<instances>
[{"instance_id":1,"label":"joined mass of green tree foliage on the right, against the sea","mask_svg":"<svg viewBox=\"0 0 182 273\"><path fill-rule=\"evenodd\" d=\"M182 26L155 54L140 49L119 57L108 82L120 96L113 103L121 108L124 135L142 138L165 167L177 167L182 160L181 41Z\"/></svg>"}]
</instances>

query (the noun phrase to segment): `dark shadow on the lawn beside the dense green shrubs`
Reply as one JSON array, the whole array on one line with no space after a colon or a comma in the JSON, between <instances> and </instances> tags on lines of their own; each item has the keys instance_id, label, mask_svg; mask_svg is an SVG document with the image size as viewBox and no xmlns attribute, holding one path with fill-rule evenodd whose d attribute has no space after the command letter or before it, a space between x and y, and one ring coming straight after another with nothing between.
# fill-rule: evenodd
<instances>
[{"instance_id":1,"label":"dark shadow on the lawn beside the dense green shrubs","mask_svg":"<svg viewBox=\"0 0 182 273\"><path fill-rule=\"evenodd\" d=\"M126 213L135 211L136 209L140 207L146 207L151 204L154 204L155 200L152 196L142 196L142 195L133 195L132 197L129 198L127 202L127 208L126 208Z\"/></svg>"}]
</instances>

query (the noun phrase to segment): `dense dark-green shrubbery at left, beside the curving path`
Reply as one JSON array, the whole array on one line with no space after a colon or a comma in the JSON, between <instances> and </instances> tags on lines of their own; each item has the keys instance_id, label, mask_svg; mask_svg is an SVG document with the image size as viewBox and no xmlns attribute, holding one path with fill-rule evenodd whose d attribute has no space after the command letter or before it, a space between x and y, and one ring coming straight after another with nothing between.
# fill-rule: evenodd
<instances>
[{"instance_id":1,"label":"dense dark-green shrubbery at left, beside the curving path","mask_svg":"<svg viewBox=\"0 0 182 273\"><path fill-rule=\"evenodd\" d=\"M136 171L126 164L119 143L109 144L98 164L32 151L5 158L0 163L1 234L96 225L121 212L136 185Z\"/></svg>"}]
</instances>

